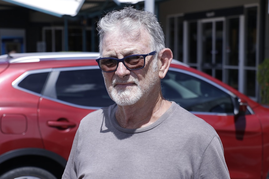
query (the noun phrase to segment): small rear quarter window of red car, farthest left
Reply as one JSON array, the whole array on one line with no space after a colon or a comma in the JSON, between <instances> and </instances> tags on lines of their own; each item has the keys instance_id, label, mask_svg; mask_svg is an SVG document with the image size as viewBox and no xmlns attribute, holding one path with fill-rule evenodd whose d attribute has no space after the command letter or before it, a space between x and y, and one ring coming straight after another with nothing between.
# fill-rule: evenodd
<instances>
[{"instance_id":1,"label":"small rear quarter window of red car, farthest left","mask_svg":"<svg viewBox=\"0 0 269 179\"><path fill-rule=\"evenodd\" d=\"M18 84L18 87L41 94L48 74L49 72L29 74Z\"/></svg>"}]
</instances>

